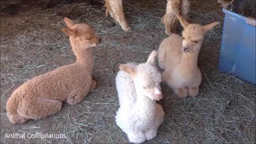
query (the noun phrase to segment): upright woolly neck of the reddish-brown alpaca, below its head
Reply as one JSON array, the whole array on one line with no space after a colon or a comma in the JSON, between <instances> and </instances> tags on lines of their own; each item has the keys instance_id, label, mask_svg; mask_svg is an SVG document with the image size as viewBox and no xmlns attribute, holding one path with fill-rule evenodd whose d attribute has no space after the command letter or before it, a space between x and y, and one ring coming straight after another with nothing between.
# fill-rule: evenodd
<instances>
[{"instance_id":1,"label":"upright woolly neck of the reddish-brown alpaca, below its head","mask_svg":"<svg viewBox=\"0 0 256 144\"><path fill-rule=\"evenodd\" d=\"M76 56L76 62L86 67L93 68L93 54L90 47L78 43L73 37L69 38L72 50Z\"/></svg>"}]
</instances>

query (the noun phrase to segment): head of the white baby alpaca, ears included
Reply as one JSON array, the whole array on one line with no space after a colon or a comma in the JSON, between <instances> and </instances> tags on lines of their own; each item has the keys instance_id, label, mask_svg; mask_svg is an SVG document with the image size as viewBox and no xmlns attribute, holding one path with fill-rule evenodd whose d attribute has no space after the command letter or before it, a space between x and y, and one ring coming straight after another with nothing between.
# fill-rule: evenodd
<instances>
[{"instance_id":1,"label":"head of the white baby alpaca, ears included","mask_svg":"<svg viewBox=\"0 0 256 144\"><path fill-rule=\"evenodd\" d=\"M119 69L132 76L137 93L146 95L151 100L162 99L161 74L156 68L156 55L157 51L155 50L149 55L146 63L141 63L135 67L127 64L119 66Z\"/></svg>"}]
</instances>

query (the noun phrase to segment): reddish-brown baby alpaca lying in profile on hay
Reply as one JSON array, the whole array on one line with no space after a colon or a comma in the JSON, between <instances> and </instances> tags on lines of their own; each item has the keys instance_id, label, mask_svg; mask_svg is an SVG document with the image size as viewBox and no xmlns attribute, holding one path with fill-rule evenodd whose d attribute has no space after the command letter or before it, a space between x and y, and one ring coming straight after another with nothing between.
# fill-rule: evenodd
<instances>
[{"instance_id":1,"label":"reddish-brown baby alpaca lying in profile on hay","mask_svg":"<svg viewBox=\"0 0 256 144\"><path fill-rule=\"evenodd\" d=\"M65 18L68 28L62 30L69 35L76 62L37 76L16 89L6 103L7 117L11 123L25 123L28 119L39 119L60 111L62 102L70 105L82 101L95 89L92 79L93 54L91 47L101 42L91 26L76 24Z\"/></svg>"}]
</instances>

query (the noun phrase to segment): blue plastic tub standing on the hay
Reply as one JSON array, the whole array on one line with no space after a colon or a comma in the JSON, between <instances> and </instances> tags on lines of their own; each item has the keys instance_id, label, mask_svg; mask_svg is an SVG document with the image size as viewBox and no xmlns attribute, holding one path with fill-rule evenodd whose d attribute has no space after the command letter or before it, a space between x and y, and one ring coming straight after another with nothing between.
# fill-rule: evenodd
<instances>
[{"instance_id":1,"label":"blue plastic tub standing on the hay","mask_svg":"<svg viewBox=\"0 0 256 144\"><path fill-rule=\"evenodd\" d=\"M222 9L225 13L219 70L255 85L255 19L236 13L237 1Z\"/></svg>"}]
</instances>

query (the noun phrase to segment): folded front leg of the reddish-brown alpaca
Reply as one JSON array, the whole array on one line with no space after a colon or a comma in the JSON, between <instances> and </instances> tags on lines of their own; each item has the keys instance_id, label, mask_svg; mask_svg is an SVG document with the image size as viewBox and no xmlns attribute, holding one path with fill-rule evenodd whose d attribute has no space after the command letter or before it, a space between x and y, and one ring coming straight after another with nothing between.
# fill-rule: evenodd
<instances>
[{"instance_id":1,"label":"folded front leg of the reddish-brown alpaca","mask_svg":"<svg viewBox=\"0 0 256 144\"><path fill-rule=\"evenodd\" d=\"M86 91L73 91L67 98L67 103L69 105L75 105L78 102L81 102L84 97L89 93L89 90Z\"/></svg>"}]
</instances>

